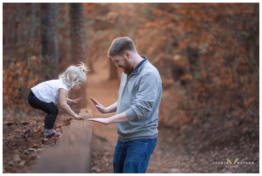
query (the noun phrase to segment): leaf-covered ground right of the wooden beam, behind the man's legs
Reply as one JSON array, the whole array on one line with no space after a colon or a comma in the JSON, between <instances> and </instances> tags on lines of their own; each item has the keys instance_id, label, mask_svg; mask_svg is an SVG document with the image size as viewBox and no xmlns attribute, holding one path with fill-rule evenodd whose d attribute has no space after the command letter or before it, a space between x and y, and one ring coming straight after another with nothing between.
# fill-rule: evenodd
<instances>
[{"instance_id":1,"label":"leaf-covered ground right of the wooden beam, behind the man's legs","mask_svg":"<svg viewBox=\"0 0 262 176\"><path fill-rule=\"evenodd\" d=\"M103 128L107 133L108 129ZM258 125L254 128L258 131L241 132L228 139L223 138L228 132L212 138L210 135L216 133L212 128L206 132L208 134L193 127L176 129L160 124L158 129L157 146L147 173L259 173ZM252 133L257 135L252 136ZM113 173L116 141L100 134L103 137L92 135L92 172ZM227 164L226 159L232 164Z\"/></svg>"}]
</instances>

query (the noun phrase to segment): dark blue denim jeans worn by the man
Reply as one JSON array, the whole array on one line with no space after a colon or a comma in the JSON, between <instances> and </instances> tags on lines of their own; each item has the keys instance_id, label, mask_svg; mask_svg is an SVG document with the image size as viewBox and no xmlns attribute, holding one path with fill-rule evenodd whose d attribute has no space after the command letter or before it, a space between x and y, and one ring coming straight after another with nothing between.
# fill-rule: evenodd
<instances>
[{"instance_id":1,"label":"dark blue denim jeans worn by the man","mask_svg":"<svg viewBox=\"0 0 262 176\"><path fill-rule=\"evenodd\" d=\"M146 173L156 142L156 138L128 142L118 140L113 159L114 173Z\"/></svg>"}]
</instances>

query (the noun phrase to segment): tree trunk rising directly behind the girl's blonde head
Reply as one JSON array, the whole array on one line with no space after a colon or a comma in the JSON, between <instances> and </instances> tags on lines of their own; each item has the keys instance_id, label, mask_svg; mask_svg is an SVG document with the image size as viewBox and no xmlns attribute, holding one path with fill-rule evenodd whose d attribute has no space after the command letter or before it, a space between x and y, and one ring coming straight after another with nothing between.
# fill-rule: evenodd
<instances>
[{"instance_id":1,"label":"tree trunk rising directly behind the girl's blonde head","mask_svg":"<svg viewBox=\"0 0 262 176\"><path fill-rule=\"evenodd\" d=\"M77 64L78 61L85 63L85 28L84 28L84 11L83 3L70 3L70 23L71 23L71 39L72 39L72 63ZM70 99L83 97L83 100L75 106L75 108L86 107L86 89L82 87L76 92L70 93Z\"/></svg>"}]
</instances>

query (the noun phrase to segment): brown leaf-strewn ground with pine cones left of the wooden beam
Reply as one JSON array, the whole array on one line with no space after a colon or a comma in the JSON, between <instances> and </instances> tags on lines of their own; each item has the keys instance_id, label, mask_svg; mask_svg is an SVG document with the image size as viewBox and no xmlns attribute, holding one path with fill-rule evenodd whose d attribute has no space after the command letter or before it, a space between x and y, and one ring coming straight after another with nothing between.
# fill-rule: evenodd
<instances>
[{"instance_id":1,"label":"brown leaf-strewn ground with pine cones left of the wooden beam","mask_svg":"<svg viewBox=\"0 0 262 176\"><path fill-rule=\"evenodd\" d=\"M30 173L42 150L58 143L59 135L43 138L44 117L40 111L3 109L3 173ZM69 125L70 119L60 115L54 128L59 130Z\"/></svg>"}]
</instances>

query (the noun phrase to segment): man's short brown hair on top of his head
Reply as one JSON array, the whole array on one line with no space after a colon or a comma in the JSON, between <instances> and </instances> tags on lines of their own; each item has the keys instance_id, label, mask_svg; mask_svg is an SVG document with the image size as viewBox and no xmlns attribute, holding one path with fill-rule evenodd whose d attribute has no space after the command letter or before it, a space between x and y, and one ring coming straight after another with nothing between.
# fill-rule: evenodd
<instances>
[{"instance_id":1,"label":"man's short brown hair on top of his head","mask_svg":"<svg viewBox=\"0 0 262 176\"><path fill-rule=\"evenodd\" d=\"M117 37L113 40L107 53L108 57L124 55L126 51L136 51L134 42L128 37Z\"/></svg>"}]
</instances>

